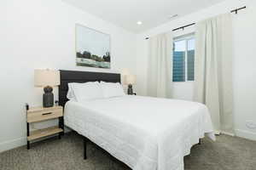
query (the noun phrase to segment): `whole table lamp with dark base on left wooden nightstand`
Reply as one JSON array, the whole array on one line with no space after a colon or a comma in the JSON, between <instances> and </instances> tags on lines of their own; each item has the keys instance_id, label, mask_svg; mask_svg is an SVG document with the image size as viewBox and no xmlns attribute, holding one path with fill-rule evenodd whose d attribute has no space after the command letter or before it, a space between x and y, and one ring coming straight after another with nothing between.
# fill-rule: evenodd
<instances>
[{"instance_id":1,"label":"whole table lamp with dark base on left wooden nightstand","mask_svg":"<svg viewBox=\"0 0 256 170\"><path fill-rule=\"evenodd\" d=\"M53 87L60 85L60 71L55 70L35 70L35 87L43 87L43 106L52 107L54 105Z\"/></svg>"}]
</instances>

